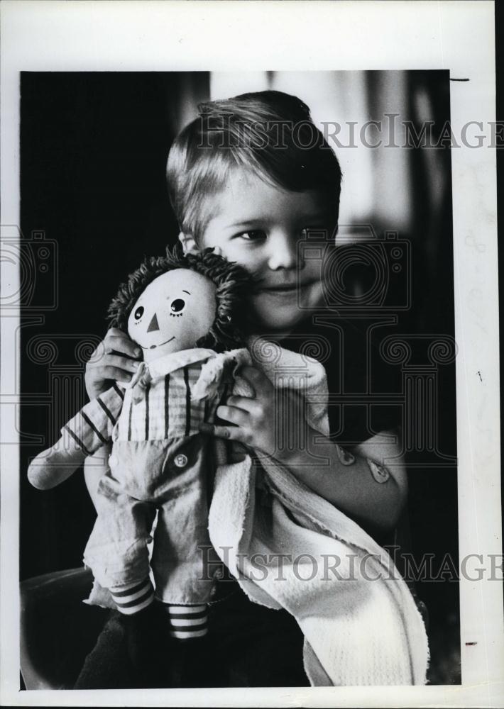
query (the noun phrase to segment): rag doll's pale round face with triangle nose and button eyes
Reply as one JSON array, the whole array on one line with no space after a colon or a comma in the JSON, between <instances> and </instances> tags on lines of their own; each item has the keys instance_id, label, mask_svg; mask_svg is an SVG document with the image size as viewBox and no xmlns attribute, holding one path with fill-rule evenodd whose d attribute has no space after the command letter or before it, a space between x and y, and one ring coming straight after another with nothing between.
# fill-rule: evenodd
<instances>
[{"instance_id":1,"label":"rag doll's pale round face with triangle nose and button eyes","mask_svg":"<svg viewBox=\"0 0 504 709\"><path fill-rule=\"evenodd\" d=\"M128 318L128 335L152 362L179 350L190 350L215 319L215 286L202 274L174 269L150 283Z\"/></svg>"}]
</instances>

